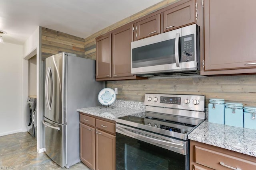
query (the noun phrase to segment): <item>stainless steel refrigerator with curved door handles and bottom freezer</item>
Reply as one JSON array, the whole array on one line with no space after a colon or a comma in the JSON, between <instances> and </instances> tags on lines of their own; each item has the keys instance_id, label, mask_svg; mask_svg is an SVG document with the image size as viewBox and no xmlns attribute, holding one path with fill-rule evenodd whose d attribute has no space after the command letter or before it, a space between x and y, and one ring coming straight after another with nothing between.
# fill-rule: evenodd
<instances>
[{"instance_id":1,"label":"stainless steel refrigerator with curved door handles and bottom freezer","mask_svg":"<svg viewBox=\"0 0 256 170\"><path fill-rule=\"evenodd\" d=\"M60 166L80 162L78 108L100 106L105 82L95 80L95 61L59 53L45 60L44 144Z\"/></svg>"}]
</instances>

